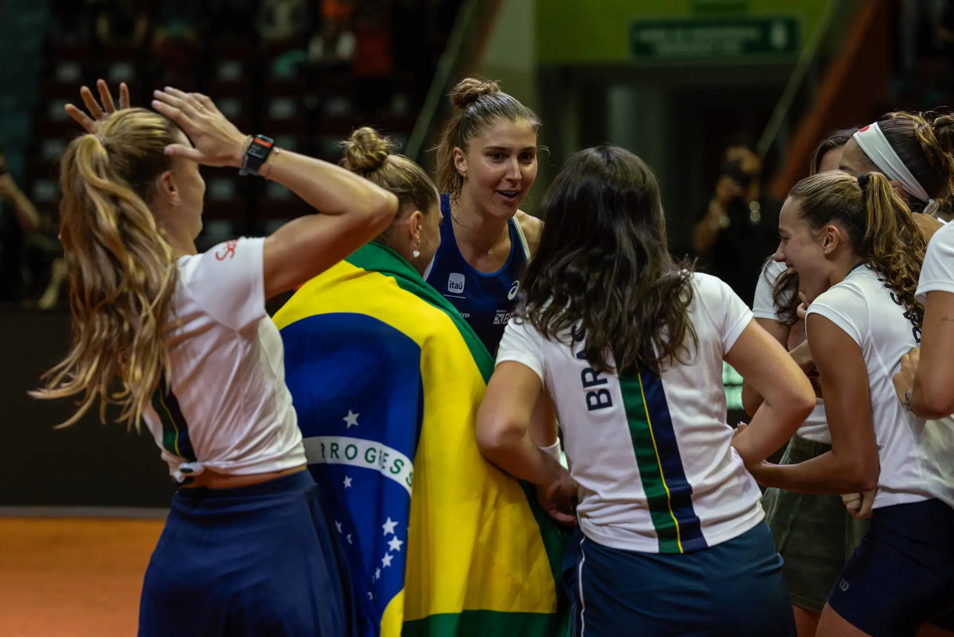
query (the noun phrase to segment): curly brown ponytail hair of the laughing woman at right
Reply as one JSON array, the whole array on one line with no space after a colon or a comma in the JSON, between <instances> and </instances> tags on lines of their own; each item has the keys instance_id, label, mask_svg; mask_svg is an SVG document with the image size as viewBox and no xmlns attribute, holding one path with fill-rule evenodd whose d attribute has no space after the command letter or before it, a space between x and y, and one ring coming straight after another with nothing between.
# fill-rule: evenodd
<instances>
[{"instance_id":1,"label":"curly brown ponytail hair of the laughing woman at right","mask_svg":"<svg viewBox=\"0 0 954 637\"><path fill-rule=\"evenodd\" d=\"M882 277L911 322L921 327L924 307L914 294L927 244L886 176L819 173L799 181L789 197L798 201L798 215L812 230L838 223L855 253Z\"/></svg>"}]
</instances>

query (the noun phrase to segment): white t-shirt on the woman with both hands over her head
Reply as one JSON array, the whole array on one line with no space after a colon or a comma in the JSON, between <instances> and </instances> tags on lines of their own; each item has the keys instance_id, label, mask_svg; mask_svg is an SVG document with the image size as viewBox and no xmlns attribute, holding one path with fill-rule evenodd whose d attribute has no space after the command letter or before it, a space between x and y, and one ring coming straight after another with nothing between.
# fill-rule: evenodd
<instances>
[{"instance_id":1,"label":"white t-shirt on the woman with both hands over her head","mask_svg":"<svg viewBox=\"0 0 954 637\"><path fill-rule=\"evenodd\" d=\"M305 463L281 337L265 313L263 246L240 238L178 259L165 326L171 392L160 387L144 415L176 481L205 467L248 475Z\"/></svg>"}]
</instances>

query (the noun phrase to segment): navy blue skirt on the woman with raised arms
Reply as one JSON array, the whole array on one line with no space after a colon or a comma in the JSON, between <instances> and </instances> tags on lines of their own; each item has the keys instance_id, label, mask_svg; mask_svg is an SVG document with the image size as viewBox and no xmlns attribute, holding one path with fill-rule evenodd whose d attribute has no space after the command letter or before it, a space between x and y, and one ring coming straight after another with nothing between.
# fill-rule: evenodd
<instances>
[{"instance_id":1,"label":"navy blue skirt on the woman with raised arms","mask_svg":"<svg viewBox=\"0 0 954 637\"><path fill-rule=\"evenodd\" d=\"M307 471L235 489L179 489L146 570L139 635L352 635L337 542Z\"/></svg>"}]
</instances>

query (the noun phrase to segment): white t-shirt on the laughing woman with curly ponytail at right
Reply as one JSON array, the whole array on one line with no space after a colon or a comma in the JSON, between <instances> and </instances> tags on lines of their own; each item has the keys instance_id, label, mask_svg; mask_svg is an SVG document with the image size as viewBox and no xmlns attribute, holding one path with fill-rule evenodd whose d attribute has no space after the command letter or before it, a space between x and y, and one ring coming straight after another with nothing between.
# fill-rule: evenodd
<instances>
[{"instance_id":1,"label":"white t-shirt on the laughing woman with curly ponytail at right","mask_svg":"<svg viewBox=\"0 0 954 637\"><path fill-rule=\"evenodd\" d=\"M809 306L838 325L861 347L871 388L871 410L881 476L875 508L938 498L954 506L954 427L948 419L924 421L898 400L893 377L921 332L900 302L868 266L852 270ZM809 335L811 339L811 335Z\"/></svg>"}]
</instances>

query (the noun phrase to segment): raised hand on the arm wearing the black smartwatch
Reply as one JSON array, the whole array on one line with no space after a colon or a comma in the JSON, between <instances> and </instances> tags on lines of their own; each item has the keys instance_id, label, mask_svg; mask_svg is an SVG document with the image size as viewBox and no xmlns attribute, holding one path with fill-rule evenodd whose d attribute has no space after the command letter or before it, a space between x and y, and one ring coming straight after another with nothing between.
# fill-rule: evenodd
<instances>
[{"instance_id":1,"label":"raised hand on the arm wearing the black smartwatch","mask_svg":"<svg viewBox=\"0 0 954 637\"><path fill-rule=\"evenodd\" d=\"M176 122L194 145L172 144L166 147L166 154L205 166L241 167L246 135L218 111L211 99L170 87L153 92L153 96L153 108Z\"/></svg>"}]
</instances>

